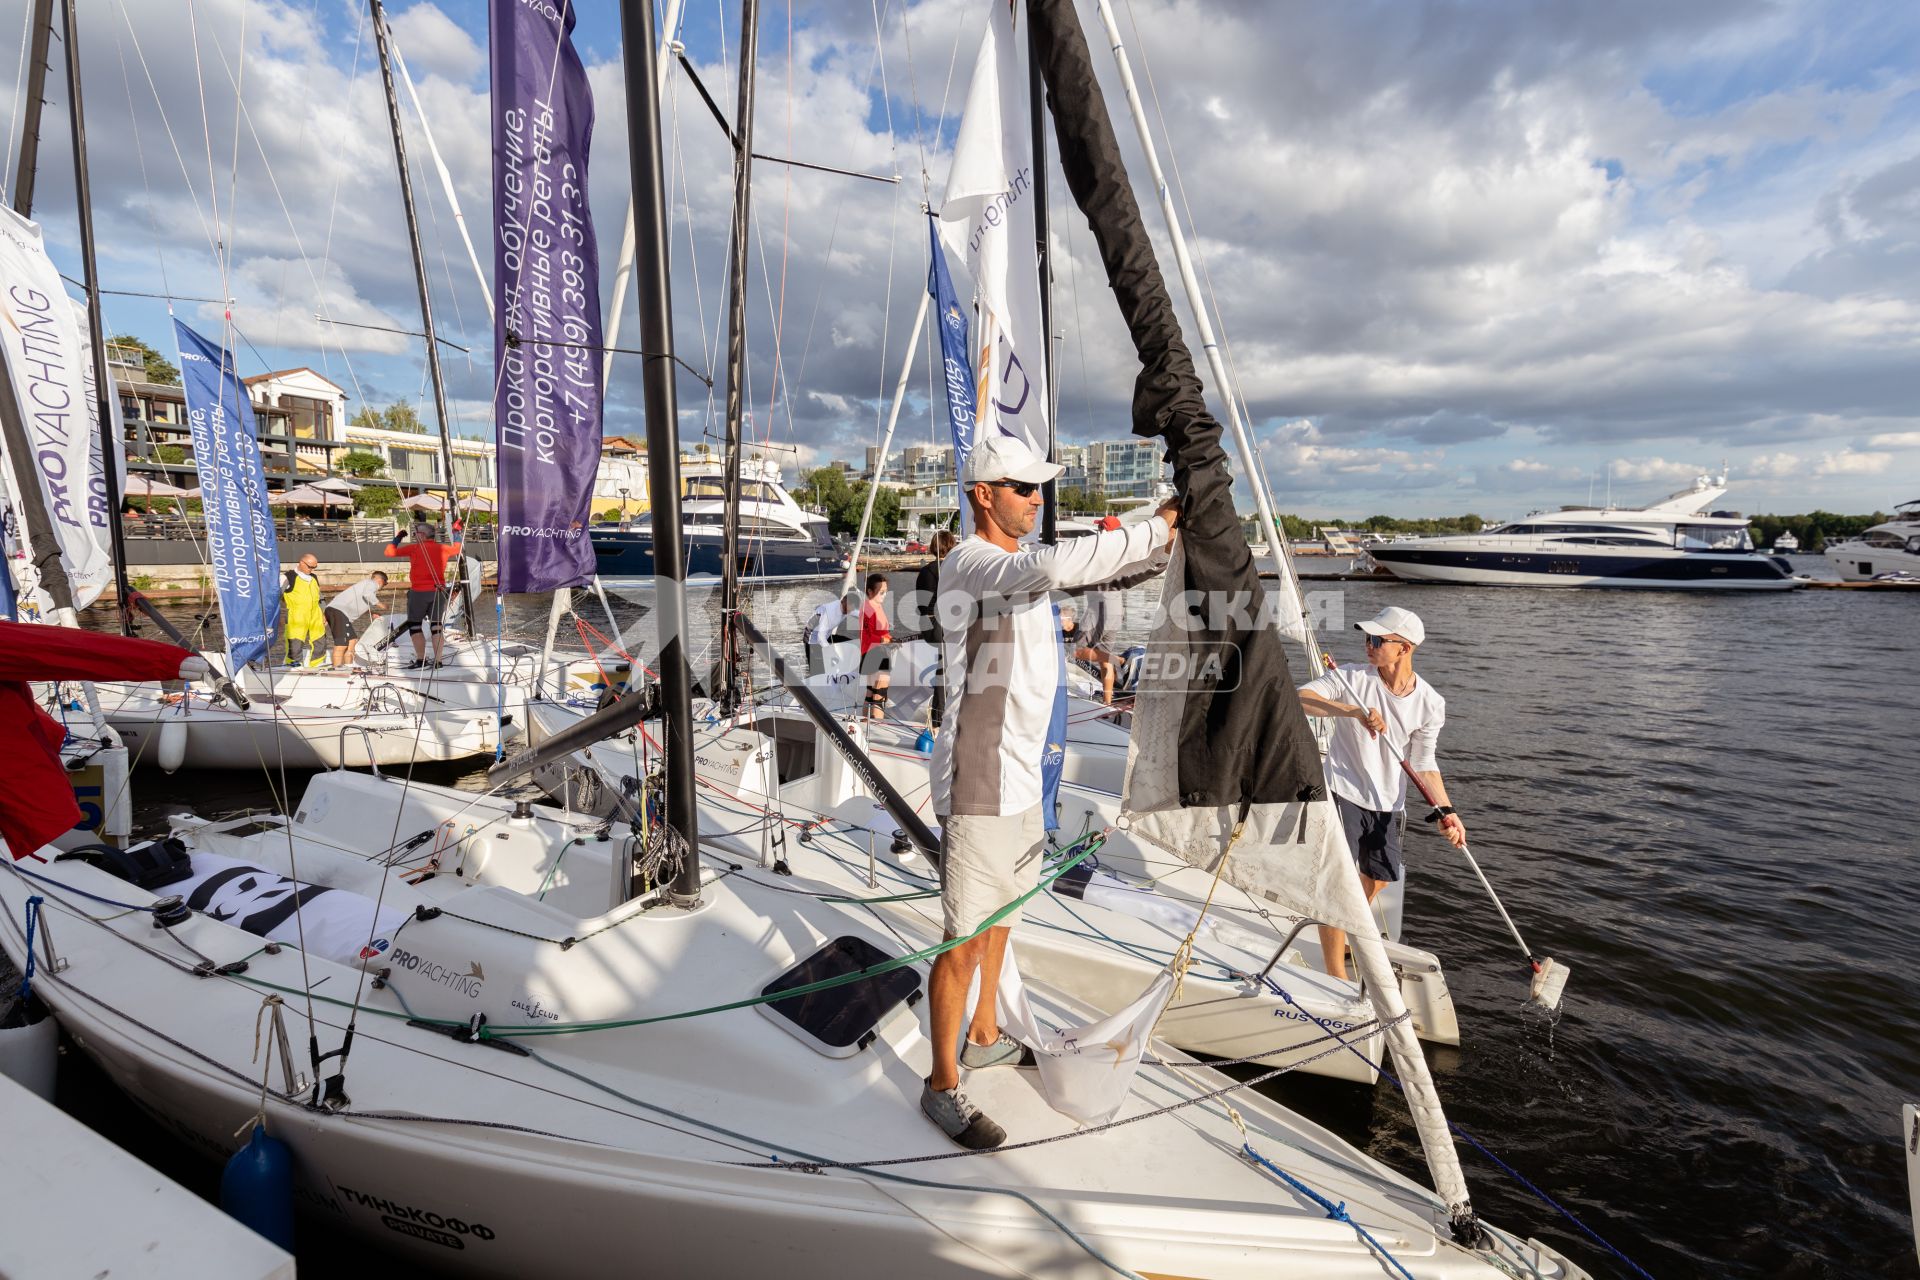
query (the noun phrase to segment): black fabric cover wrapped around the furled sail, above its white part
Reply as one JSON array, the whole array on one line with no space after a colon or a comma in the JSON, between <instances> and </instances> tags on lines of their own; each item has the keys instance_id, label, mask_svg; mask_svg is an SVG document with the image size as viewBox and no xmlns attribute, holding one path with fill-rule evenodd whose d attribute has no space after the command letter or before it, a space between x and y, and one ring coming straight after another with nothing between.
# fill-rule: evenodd
<instances>
[{"instance_id":1,"label":"black fabric cover wrapped around the furled sail, above its white part","mask_svg":"<svg viewBox=\"0 0 1920 1280\"><path fill-rule=\"evenodd\" d=\"M1071 0L1033 0L1033 48L1060 140L1060 167L1087 215L1119 301L1140 374L1133 434L1160 436L1181 495L1187 643L1196 677L1181 710L1179 793L1194 806L1286 804L1325 798L1319 748L1308 727L1281 633L1260 608L1260 572L1233 507L1221 426L1181 340L1173 297L1154 259L1127 182L1092 54Z\"/></svg>"}]
</instances>

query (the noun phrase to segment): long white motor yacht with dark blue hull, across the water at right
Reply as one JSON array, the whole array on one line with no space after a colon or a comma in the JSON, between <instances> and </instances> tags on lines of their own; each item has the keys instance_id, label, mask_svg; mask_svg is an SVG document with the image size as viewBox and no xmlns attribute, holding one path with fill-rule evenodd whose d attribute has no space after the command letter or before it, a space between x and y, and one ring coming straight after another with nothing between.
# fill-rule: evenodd
<instances>
[{"instance_id":1,"label":"long white motor yacht with dark blue hull, across the water at right","mask_svg":"<svg viewBox=\"0 0 1920 1280\"><path fill-rule=\"evenodd\" d=\"M1791 591L1784 558L1753 545L1740 512L1711 510L1724 476L1649 507L1563 507L1484 533L1409 537L1369 547L1396 578L1476 587L1642 587ZM1832 555L1832 553L1830 553Z\"/></svg>"}]
</instances>

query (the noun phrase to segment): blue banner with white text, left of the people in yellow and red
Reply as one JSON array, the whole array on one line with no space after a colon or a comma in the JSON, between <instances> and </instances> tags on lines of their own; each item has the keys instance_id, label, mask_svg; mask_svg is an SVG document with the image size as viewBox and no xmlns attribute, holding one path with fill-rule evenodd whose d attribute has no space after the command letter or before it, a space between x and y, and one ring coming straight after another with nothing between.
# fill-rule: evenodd
<instances>
[{"instance_id":1,"label":"blue banner with white text, left of the people in yellow and red","mask_svg":"<svg viewBox=\"0 0 1920 1280\"><path fill-rule=\"evenodd\" d=\"M207 522L207 560L221 597L227 660L240 670L265 658L280 631L280 543L273 535L267 478L259 466L259 432L232 355L179 320L173 336L180 344L180 390L194 434L200 510Z\"/></svg>"}]
</instances>

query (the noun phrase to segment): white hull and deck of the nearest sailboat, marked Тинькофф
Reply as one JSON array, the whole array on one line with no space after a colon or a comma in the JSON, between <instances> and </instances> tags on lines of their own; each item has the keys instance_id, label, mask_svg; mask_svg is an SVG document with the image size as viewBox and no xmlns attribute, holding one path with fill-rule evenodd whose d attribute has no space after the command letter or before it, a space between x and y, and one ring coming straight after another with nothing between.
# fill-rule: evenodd
<instances>
[{"instance_id":1,"label":"white hull and deck of the nearest sailboat, marked \u0422\u0438\u043d\u044c\u043a\u043e\u0444\u0444","mask_svg":"<svg viewBox=\"0 0 1920 1280\"><path fill-rule=\"evenodd\" d=\"M852 1057L816 1054L758 1009L578 1027L756 992L843 933L874 936L893 954L929 935L891 940L862 925L858 908L818 896L828 887L799 877L776 887L724 867L695 912L624 904L601 913L591 904L607 900L622 842L586 839L591 827L561 816L515 819L511 810L507 800L328 773L309 787L290 831L248 819L177 823L196 856L238 856L284 875L298 848L309 885L378 890L403 913L442 910L394 931L392 950L374 960L386 983L361 988L338 1109L301 1105L305 1086L290 1088L278 1063L267 1071L267 1128L294 1151L298 1203L324 1224L474 1276L622 1274L637 1257L657 1276L780 1268L876 1280L1091 1278L1112 1274L1102 1259L1213 1280L1302 1267L1329 1280L1379 1276L1380 1259L1354 1228L1240 1157L1244 1140L1344 1203L1413 1276L1501 1274L1446 1238L1446 1207L1430 1192L1250 1090L1233 1096L1244 1138L1217 1105L1152 1115L1227 1084L1198 1065L1144 1065L1119 1113L1139 1119L1096 1134L1052 1111L1031 1075L973 1073L970 1094L1014 1140L1052 1142L887 1171L785 1169L795 1153L952 1153L918 1115L929 1063L920 1017L881 1023L879 1038ZM409 883L392 873L384 889L378 860L342 842L344 833L378 829L365 848L388 829L449 825L468 835L436 844L440 875ZM407 860L413 871L420 852ZM453 860L461 875L445 873ZM269 988L248 979L296 988L284 1009L296 1044L307 1031L303 990L313 990L317 1038L324 1050L340 1044L348 1009L326 998L353 998L353 967L292 946L267 954L261 938L209 915L175 931L157 931L142 912L94 908L84 919L88 900L75 890L125 902L156 894L84 864L44 871L29 881L0 867L0 946L23 958L23 900L44 896L65 967L42 969L36 992L83 1050L192 1148L223 1157L261 1105L252 1054ZM182 942L217 965L246 958L248 969L200 977ZM1085 1017L1044 990L1035 988L1035 1000L1048 1019ZM534 1054L524 1055L405 1021L465 1023L468 1011L493 1025L553 1017L576 1031L515 1040ZM305 1061L296 1069L311 1071ZM340 1069L338 1059L323 1067ZM1582 1274L1500 1240L1509 1267L1524 1257L1544 1276Z\"/></svg>"}]
</instances>

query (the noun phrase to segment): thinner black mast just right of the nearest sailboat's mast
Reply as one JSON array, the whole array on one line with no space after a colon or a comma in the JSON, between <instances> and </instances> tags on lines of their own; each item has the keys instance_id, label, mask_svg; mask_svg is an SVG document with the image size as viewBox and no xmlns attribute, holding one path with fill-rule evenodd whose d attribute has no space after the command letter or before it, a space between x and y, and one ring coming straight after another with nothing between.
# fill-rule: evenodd
<instances>
[{"instance_id":1,"label":"thinner black mast just right of the nearest sailboat's mast","mask_svg":"<svg viewBox=\"0 0 1920 1280\"><path fill-rule=\"evenodd\" d=\"M733 107L733 232L728 240L726 319L726 516L720 530L720 687L722 710L739 700L739 453L747 382L747 217L753 207L753 71L760 46L760 0L739 6L739 98ZM643 81L651 92L653 81ZM678 530L676 530L678 535ZM655 543L659 545L659 541Z\"/></svg>"}]
</instances>

